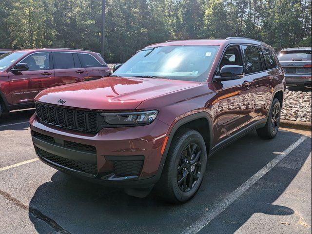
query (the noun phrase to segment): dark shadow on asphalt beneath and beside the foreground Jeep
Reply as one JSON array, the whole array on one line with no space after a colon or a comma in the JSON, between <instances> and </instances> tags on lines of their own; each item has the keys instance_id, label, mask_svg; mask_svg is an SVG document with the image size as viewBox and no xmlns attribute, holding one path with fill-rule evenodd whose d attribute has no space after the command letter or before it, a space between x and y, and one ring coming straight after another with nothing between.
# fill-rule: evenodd
<instances>
[{"instance_id":1,"label":"dark shadow on asphalt beneath and beside the foreground Jeep","mask_svg":"<svg viewBox=\"0 0 312 234\"><path fill-rule=\"evenodd\" d=\"M146 198L131 197L121 189L102 187L57 172L51 181L37 189L29 206L72 234L178 234L276 157L273 152L283 152L300 137L280 131L273 140L262 140L255 133L250 133L235 141L208 160L207 173L197 195L183 205L166 204L154 193ZM302 144L311 147L311 138ZM279 175L271 170L243 195L247 194L243 205L235 208L234 215L227 216L230 211L226 209L204 229L211 226L209 233L234 233L254 213L292 215L294 211L291 208L272 203L297 175L311 148L308 151L298 156L295 169L283 168ZM37 231L43 234L40 223L34 220L31 213L29 218Z\"/></svg>"}]
</instances>

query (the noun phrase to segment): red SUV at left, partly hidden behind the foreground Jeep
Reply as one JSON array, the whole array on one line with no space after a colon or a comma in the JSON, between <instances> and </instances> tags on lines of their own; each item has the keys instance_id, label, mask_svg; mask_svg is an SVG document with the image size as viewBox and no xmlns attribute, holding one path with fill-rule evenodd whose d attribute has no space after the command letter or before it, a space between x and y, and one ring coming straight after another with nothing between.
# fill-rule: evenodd
<instances>
[{"instance_id":1,"label":"red SUV at left, partly hidden behind the foreground Jeep","mask_svg":"<svg viewBox=\"0 0 312 234\"><path fill-rule=\"evenodd\" d=\"M111 75L95 52L44 48L15 50L0 56L1 112L34 106L35 96L58 85Z\"/></svg>"}]
</instances>

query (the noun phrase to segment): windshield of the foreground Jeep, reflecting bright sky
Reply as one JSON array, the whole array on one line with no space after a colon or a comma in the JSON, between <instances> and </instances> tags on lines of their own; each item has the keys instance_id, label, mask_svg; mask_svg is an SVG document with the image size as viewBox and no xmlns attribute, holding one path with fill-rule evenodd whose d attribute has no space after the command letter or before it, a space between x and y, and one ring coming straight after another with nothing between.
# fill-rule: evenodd
<instances>
[{"instance_id":1,"label":"windshield of the foreground Jeep, reflecting bright sky","mask_svg":"<svg viewBox=\"0 0 312 234\"><path fill-rule=\"evenodd\" d=\"M137 52L116 76L151 76L205 82L219 46L161 46Z\"/></svg>"}]
</instances>

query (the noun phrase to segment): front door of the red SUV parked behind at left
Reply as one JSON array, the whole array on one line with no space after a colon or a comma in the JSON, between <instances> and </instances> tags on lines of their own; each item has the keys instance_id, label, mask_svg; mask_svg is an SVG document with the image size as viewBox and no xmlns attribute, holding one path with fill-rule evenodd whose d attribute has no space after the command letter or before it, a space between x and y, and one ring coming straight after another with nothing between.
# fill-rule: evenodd
<instances>
[{"instance_id":1,"label":"front door of the red SUV parked behind at left","mask_svg":"<svg viewBox=\"0 0 312 234\"><path fill-rule=\"evenodd\" d=\"M13 104L33 102L40 91L55 85L50 52L30 54L20 63L27 63L29 70L8 72Z\"/></svg>"}]
</instances>

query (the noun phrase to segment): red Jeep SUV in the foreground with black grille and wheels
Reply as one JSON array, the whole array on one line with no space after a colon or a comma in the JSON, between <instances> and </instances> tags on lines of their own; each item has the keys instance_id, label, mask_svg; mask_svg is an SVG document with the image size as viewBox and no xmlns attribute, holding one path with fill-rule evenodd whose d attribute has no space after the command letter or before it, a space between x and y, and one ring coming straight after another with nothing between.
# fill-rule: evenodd
<instances>
[{"instance_id":1,"label":"red Jeep SUV in the foreground with black grille and wheels","mask_svg":"<svg viewBox=\"0 0 312 234\"><path fill-rule=\"evenodd\" d=\"M276 136L285 91L273 48L253 39L167 41L112 76L42 91L31 117L40 160L171 202L192 198L207 158L256 129Z\"/></svg>"}]
</instances>

